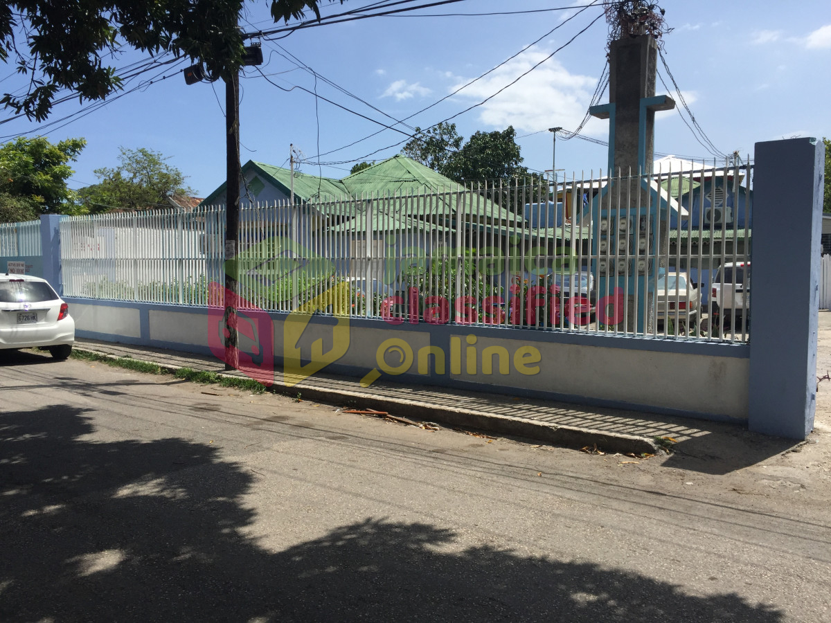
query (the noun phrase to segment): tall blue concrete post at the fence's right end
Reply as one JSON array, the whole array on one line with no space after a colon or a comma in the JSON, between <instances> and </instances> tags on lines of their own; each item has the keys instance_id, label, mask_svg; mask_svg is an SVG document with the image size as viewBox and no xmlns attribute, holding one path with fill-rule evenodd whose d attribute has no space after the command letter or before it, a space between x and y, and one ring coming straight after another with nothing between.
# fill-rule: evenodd
<instances>
[{"instance_id":1,"label":"tall blue concrete post at the fence's right end","mask_svg":"<svg viewBox=\"0 0 831 623\"><path fill-rule=\"evenodd\" d=\"M755 145L750 301L752 431L814 428L825 149L816 139Z\"/></svg>"}]
</instances>

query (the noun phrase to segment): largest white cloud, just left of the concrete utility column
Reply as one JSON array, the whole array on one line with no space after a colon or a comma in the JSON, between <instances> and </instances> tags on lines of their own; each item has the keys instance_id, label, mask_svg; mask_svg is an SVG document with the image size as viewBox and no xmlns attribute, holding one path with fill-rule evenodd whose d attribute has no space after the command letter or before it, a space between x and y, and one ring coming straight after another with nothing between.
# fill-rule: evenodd
<instances>
[{"instance_id":1,"label":"largest white cloud, just left of the concrete utility column","mask_svg":"<svg viewBox=\"0 0 831 623\"><path fill-rule=\"evenodd\" d=\"M455 97L470 103L483 101L529 71L546 56L547 52L529 50L466 87ZM455 91L465 82L467 80L460 80L450 91ZM504 130L509 125L513 125L518 132L534 132L552 125L574 130L583 120L596 86L596 77L573 74L557 59L550 59L479 106L479 120L484 125L499 130ZM606 101L606 96L603 96L601 103ZM597 125L590 123L583 131L602 136L607 125L607 122Z\"/></svg>"}]
</instances>

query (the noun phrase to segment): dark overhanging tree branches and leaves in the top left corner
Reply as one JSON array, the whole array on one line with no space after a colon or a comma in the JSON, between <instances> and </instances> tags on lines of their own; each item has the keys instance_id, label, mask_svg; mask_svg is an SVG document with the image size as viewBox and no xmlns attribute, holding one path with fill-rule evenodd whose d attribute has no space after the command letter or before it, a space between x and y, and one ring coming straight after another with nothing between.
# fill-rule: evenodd
<instances>
[{"instance_id":1,"label":"dark overhanging tree branches and leaves in the top left corner","mask_svg":"<svg viewBox=\"0 0 831 623\"><path fill-rule=\"evenodd\" d=\"M328 0L334 2L335 0ZM303 17L324 0L272 0L275 22ZM344 2L344 0L340 0ZM243 64L238 16L244 0L11 0L0 5L0 61L29 78L18 96L0 103L36 120L46 119L61 89L81 100L101 100L122 86L108 59L126 44L152 56L173 52L204 63L213 76Z\"/></svg>"}]
</instances>

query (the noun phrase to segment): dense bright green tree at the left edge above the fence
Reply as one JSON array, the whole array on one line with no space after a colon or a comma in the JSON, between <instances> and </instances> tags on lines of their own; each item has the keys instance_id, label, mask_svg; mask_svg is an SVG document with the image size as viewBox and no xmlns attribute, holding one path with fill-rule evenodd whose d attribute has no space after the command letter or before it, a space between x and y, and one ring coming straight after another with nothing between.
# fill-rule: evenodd
<instances>
[{"instance_id":1,"label":"dense bright green tree at the left edge above the fence","mask_svg":"<svg viewBox=\"0 0 831 623\"><path fill-rule=\"evenodd\" d=\"M86 140L67 139L53 145L42 136L17 137L0 147L0 194L3 213L25 216L71 212L75 194L66 180L75 171L69 165L84 149ZM14 207L12 207L14 206ZM18 218L14 218L18 220Z\"/></svg>"}]
</instances>

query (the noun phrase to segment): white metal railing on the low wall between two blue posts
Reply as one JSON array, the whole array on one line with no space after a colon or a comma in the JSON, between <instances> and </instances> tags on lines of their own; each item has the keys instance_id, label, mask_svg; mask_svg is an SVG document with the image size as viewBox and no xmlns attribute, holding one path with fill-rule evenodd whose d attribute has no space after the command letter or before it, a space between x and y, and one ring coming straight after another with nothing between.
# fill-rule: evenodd
<instances>
[{"instance_id":1,"label":"white metal railing on the low wall between two blue posts","mask_svg":"<svg viewBox=\"0 0 831 623\"><path fill-rule=\"evenodd\" d=\"M712 292L722 272L742 288L719 267L750 266L750 175L575 175L558 199L538 180L243 208L241 295L269 311L311 303L391 323L747 341L749 322L735 320L749 318L749 297L720 309ZM223 241L222 207L65 218L65 292L217 303Z\"/></svg>"}]
</instances>

